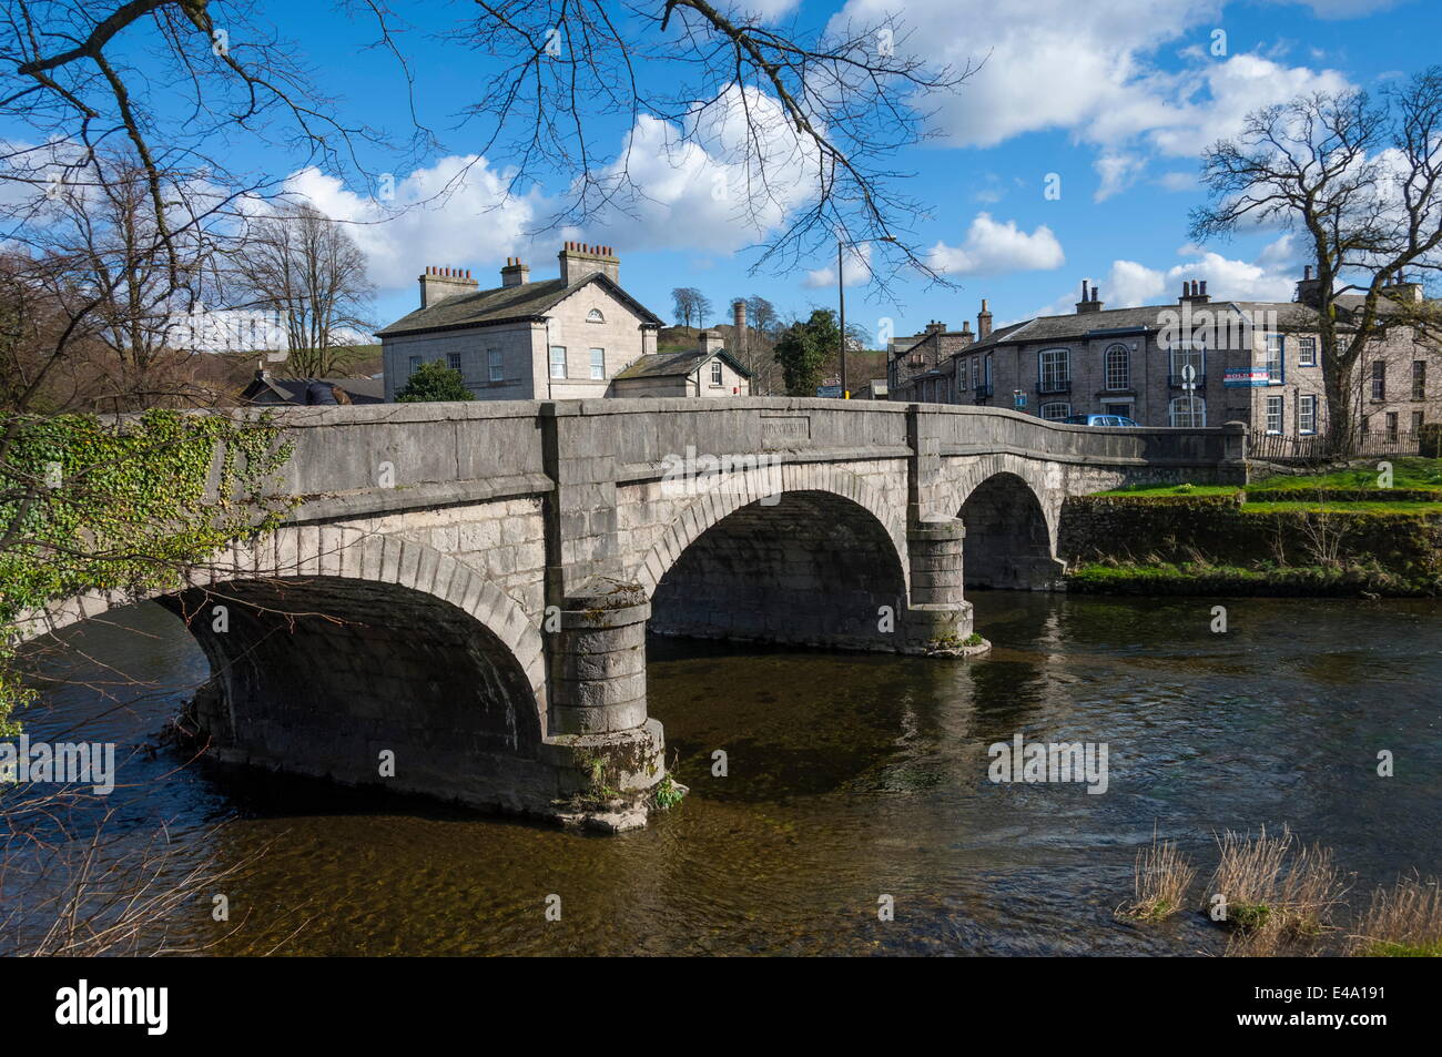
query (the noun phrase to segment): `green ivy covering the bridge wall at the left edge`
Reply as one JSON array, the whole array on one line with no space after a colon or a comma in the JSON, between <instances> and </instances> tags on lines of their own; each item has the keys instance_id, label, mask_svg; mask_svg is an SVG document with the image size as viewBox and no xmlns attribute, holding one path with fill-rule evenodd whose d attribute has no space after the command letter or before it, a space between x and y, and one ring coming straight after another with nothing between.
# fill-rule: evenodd
<instances>
[{"instance_id":1,"label":"green ivy covering the bridge wall at the left edge","mask_svg":"<svg viewBox=\"0 0 1442 1057\"><path fill-rule=\"evenodd\" d=\"M27 610L95 590L179 587L232 539L274 531L290 459L268 415L147 411L12 417L0 456L0 735L32 691L14 665Z\"/></svg>"}]
</instances>

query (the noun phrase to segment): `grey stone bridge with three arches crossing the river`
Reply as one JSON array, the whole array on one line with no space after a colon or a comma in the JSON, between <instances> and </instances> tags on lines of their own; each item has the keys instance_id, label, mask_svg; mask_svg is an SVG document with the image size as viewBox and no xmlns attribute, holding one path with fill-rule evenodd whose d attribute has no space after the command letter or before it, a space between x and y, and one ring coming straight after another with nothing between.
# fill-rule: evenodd
<instances>
[{"instance_id":1,"label":"grey stone bridge with three arches crossing the river","mask_svg":"<svg viewBox=\"0 0 1442 1057\"><path fill-rule=\"evenodd\" d=\"M162 597L213 669L196 699L212 754L611 829L642 823L665 777L647 632L955 656L966 587L1057 583L1069 495L1246 474L1236 424L942 405L392 404L281 423L290 522ZM26 633L134 601L75 598Z\"/></svg>"}]
</instances>

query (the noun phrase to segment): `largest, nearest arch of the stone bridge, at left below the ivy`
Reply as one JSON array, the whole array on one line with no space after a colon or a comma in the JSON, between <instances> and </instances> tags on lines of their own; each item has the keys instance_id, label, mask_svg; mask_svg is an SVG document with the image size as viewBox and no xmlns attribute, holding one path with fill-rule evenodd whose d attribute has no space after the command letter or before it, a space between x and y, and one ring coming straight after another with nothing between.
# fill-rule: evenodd
<instances>
[{"instance_id":1,"label":"largest, nearest arch of the stone bridge, at left below the ivy","mask_svg":"<svg viewBox=\"0 0 1442 1057\"><path fill-rule=\"evenodd\" d=\"M218 759L525 806L547 734L539 629L466 562L398 536L284 526L180 590L91 594L35 614L27 632L146 598L211 662L196 712ZM515 793L497 770L521 777Z\"/></svg>"}]
</instances>

